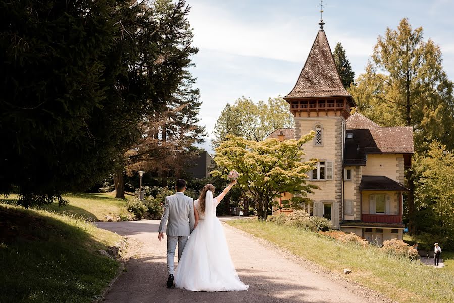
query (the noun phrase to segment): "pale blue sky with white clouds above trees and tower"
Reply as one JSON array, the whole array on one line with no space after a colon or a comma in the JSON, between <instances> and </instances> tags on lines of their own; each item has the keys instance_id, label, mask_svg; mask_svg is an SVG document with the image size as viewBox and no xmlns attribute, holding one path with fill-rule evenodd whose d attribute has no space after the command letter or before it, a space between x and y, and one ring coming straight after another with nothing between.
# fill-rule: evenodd
<instances>
[{"instance_id":1,"label":"pale blue sky with white clouds above trees and tower","mask_svg":"<svg viewBox=\"0 0 454 303\"><path fill-rule=\"evenodd\" d=\"M291 91L319 30L320 0L187 0L193 45L190 69L197 78L201 125L212 153L213 128L227 103L255 102ZM443 67L454 80L453 0L324 1L324 30L331 46L341 42L356 77L363 73L386 28L402 18L422 26L424 39L441 47Z\"/></svg>"}]
</instances>

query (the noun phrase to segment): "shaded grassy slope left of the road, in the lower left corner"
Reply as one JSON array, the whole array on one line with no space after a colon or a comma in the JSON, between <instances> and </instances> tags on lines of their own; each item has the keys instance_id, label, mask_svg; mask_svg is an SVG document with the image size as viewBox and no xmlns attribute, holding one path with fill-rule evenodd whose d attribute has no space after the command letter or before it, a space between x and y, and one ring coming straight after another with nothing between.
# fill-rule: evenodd
<instances>
[{"instance_id":1,"label":"shaded grassy slope left of the road, in the lower left corner","mask_svg":"<svg viewBox=\"0 0 454 303\"><path fill-rule=\"evenodd\" d=\"M0 302L91 302L118 272L121 237L74 216L0 203Z\"/></svg>"}]
</instances>

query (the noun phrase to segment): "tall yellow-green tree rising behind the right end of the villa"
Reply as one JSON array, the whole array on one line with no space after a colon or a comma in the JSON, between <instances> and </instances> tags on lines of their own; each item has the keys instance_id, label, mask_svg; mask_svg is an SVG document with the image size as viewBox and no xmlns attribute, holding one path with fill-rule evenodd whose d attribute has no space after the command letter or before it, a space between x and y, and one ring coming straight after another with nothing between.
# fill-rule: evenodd
<instances>
[{"instance_id":1,"label":"tall yellow-green tree rising behind the right end of the villa","mask_svg":"<svg viewBox=\"0 0 454 303\"><path fill-rule=\"evenodd\" d=\"M423 40L423 29L412 29L402 19L397 30L379 36L366 72L350 92L358 110L384 126L412 126L414 161L438 140L449 150L454 147L454 102L452 82L442 68L441 49L431 39ZM415 173L406 171L408 219L415 222Z\"/></svg>"}]
</instances>

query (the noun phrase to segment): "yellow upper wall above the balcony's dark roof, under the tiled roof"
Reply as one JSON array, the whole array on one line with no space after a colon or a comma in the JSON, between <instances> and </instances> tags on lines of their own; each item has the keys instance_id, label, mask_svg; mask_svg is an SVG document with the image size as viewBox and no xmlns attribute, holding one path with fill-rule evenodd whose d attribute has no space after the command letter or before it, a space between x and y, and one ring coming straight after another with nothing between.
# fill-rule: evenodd
<instances>
[{"instance_id":1,"label":"yellow upper wall above the balcony's dark roof, under the tiled roof","mask_svg":"<svg viewBox=\"0 0 454 303\"><path fill-rule=\"evenodd\" d=\"M363 168L363 176L386 176L399 182L398 160L401 154L368 154L366 166Z\"/></svg>"}]
</instances>

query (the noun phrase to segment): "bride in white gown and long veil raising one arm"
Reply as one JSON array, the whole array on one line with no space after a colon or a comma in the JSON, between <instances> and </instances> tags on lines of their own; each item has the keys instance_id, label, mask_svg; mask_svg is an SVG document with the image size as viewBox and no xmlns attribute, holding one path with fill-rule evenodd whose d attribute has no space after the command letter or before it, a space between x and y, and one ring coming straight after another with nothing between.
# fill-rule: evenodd
<instances>
[{"instance_id":1,"label":"bride in white gown and long veil raising one arm","mask_svg":"<svg viewBox=\"0 0 454 303\"><path fill-rule=\"evenodd\" d=\"M194 201L196 228L191 233L175 271L175 286L191 291L247 290L240 281L230 258L224 230L216 218L216 206L236 184L233 180L224 191L213 198L215 187L204 186ZM199 221L197 224L197 217Z\"/></svg>"}]
</instances>

